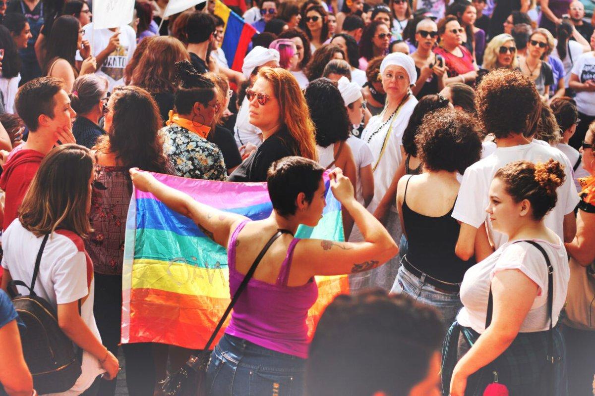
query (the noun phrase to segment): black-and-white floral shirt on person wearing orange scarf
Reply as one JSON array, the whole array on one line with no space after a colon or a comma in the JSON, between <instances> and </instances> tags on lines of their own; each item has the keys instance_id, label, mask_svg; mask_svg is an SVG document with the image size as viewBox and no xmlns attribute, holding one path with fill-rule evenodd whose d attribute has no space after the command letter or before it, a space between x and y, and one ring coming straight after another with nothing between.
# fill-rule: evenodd
<instances>
[{"instance_id":1,"label":"black-and-white floral shirt on person wearing orange scarf","mask_svg":"<svg viewBox=\"0 0 595 396\"><path fill-rule=\"evenodd\" d=\"M161 129L165 153L176 174L184 178L226 180L227 169L217 145L176 123Z\"/></svg>"}]
</instances>

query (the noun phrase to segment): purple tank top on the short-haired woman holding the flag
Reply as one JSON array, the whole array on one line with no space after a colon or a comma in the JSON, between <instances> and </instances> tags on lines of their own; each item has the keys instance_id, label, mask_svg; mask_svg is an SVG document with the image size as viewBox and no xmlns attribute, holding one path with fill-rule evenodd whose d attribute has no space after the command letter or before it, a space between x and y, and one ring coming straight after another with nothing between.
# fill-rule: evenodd
<instances>
[{"instance_id":1,"label":"purple tank top on the short-haired woman holding the flag","mask_svg":"<svg viewBox=\"0 0 595 396\"><path fill-rule=\"evenodd\" d=\"M236 271L236 239L248 221L237 226L227 246L229 288L232 296L245 276ZM294 238L289 244L275 284L250 279L234 305L226 333L267 349L306 359L306 318L308 309L318 298L318 287L314 278L302 286L287 286L297 242L299 239Z\"/></svg>"}]
</instances>

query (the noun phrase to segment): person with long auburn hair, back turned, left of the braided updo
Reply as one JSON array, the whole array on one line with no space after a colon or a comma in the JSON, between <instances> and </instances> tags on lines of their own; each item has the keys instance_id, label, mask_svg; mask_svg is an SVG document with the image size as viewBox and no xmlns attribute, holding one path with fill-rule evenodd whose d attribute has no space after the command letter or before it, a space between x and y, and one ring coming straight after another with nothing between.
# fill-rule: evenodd
<instances>
[{"instance_id":1,"label":"person with long auburn hair, back turned, left of the braided updo","mask_svg":"<svg viewBox=\"0 0 595 396\"><path fill-rule=\"evenodd\" d=\"M190 55L180 40L158 36L149 40L133 69L132 84L151 93L159 106L163 122L167 121L170 110L174 109L176 62L189 60Z\"/></svg>"}]
</instances>

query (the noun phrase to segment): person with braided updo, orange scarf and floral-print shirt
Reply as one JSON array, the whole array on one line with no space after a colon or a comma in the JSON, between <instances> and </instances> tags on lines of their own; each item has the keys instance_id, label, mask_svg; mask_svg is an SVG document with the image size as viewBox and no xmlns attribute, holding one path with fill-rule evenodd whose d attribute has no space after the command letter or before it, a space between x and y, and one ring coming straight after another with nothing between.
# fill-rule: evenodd
<instances>
[{"instance_id":1,"label":"person with braided updo, orange scarf and floral-print shirt","mask_svg":"<svg viewBox=\"0 0 595 396\"><path fill-rule=\"evenodd\" d=\"M166 153L176 174L184 178L225 180L227 169L217 145L206 140L215 114L221 109L215 84L198 74L189 61L176 63L176 110L165 128Z\"/></svg>"}]
</instances>

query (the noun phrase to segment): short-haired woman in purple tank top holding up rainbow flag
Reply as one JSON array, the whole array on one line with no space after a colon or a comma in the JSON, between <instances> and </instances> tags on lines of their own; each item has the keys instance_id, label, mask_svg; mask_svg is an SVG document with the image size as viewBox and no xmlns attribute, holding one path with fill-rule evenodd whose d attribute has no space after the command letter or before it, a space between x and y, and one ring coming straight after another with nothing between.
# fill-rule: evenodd
<instances>
[{"instance_id":1,"label":"short-haired woman in purple tank top holding up rainbow flag","mask_svg":"<svg viewBox=\"0 0 595 396\"><path fill-rule=\"evenodd\" d=\"M324 169L315 161L286 157L268 170L270 217L250 221L219 211L131 169L136 188L192 218L205 235L227 246L230 292L236 292L263 246L277 233L240 294L226 334L207 370L212 395L302 395L308 356L306 316L318 292L315 275L357 273L376 268L399 251L389 233L353 195L341 169L331 175L334 196L355 219L365 242L293 237L299 224L316 226L326 205Z\"/></svg>"}]
</instances>

